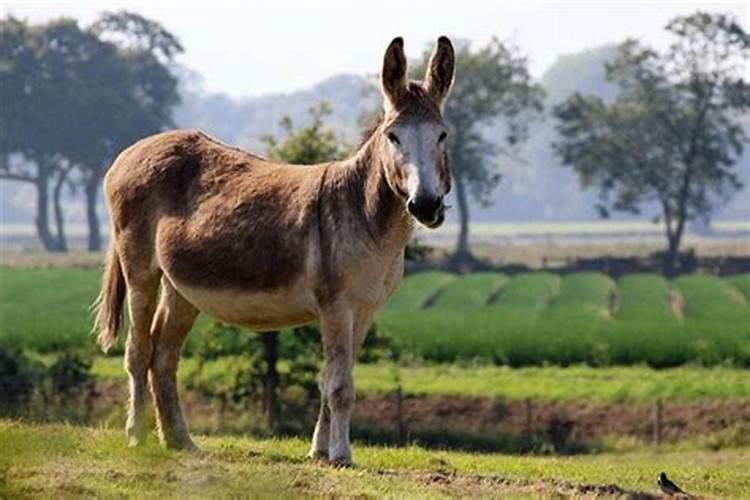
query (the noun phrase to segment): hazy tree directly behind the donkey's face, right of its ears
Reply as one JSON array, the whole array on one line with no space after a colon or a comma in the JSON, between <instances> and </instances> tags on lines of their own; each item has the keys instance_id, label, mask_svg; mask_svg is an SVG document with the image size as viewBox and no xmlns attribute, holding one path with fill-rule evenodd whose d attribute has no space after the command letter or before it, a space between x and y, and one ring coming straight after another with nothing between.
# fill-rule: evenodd
<instances>
[{"instance_id":1,"label":"hazy tree directly behind the donkey's face, right of its ears","mask_svg":"<svg viewBox=\"0 0 750 500\"><path fill-rule=\"evenodd\" d=\"M500 182L501 144L513 146L526 138L530 118L542 110L543 91L531 82L526 58L516 47L493 39L473 50L468 42L456 47L456 80L444 115L452 129L449 157L458 205L460 231L456 262L471 259L469 251L469 194L489 203ZM423 75L430 53L413 69ZM483 129L503 120L506 135L488 138Z\"/></svg>"}]
</instances>

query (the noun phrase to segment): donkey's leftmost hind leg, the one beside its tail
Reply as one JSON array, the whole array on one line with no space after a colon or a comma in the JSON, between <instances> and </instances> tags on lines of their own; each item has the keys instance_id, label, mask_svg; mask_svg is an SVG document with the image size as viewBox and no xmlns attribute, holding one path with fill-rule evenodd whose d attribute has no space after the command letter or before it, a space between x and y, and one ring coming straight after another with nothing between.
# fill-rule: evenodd
<instances>
[{"instance_id":1,"label":"donkey's leftmost hind leg, the one beside its tail","mask_svg":"<svg viewBox=\"0 0 750 500\"><path fill-rule=\"evenodd\" d=\"M125 344L125 370L130 382L130 401L125 432L130 446L146 439L146 380L151 362L151 321L159 298L159 274L125 268L128 284L130 330Z\"/></svg>"}]
</instances>

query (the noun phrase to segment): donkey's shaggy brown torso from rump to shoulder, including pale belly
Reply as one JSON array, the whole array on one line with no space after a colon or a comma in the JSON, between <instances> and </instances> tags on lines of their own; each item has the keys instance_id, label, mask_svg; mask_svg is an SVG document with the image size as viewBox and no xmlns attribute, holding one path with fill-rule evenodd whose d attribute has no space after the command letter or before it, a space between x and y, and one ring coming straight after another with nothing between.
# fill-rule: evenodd
<instances>
[{"instance_id":1,"label":"donkey's shaggy brown torso from rump to shoulder, including pale belly","mask_svg":"<svg viewBox=\"0 0 750 500\"><path fill-rule=\"evenodd\" d=\"M307 264L322 171L195 131L136 143L105 181L126 276L163 274L191 304L241 326L314 319Z\"/></svg>"}]
</instances>

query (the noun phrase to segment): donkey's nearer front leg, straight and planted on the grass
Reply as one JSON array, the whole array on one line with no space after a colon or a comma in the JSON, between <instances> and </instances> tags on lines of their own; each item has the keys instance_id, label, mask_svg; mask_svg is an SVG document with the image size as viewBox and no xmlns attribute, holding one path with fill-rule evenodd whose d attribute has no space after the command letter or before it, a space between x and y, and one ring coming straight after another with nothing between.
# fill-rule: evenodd
<instances>
[{"instance_id":1,"label":"donkey's nearer front leg, straight and planted on the grass","mask_svg":"<svg viewBox=\"0 0 750 500\"><path fill-rule=\"evenodd\" d=\"M321 314L320 329L323 338L323 382L324 400L328 402L329 415L321 410L325 426L326 416L330 418L328 432L328 459L334 465L348 466L352 463L349 446L349 421L354 405L354 378L352 367L354 353L352 349L352 313L344 307L332 308ZM322 444L325 429L316 429L316 439ZM313 442L315 450L315 442Z\"/></svg>"}]
</instances>

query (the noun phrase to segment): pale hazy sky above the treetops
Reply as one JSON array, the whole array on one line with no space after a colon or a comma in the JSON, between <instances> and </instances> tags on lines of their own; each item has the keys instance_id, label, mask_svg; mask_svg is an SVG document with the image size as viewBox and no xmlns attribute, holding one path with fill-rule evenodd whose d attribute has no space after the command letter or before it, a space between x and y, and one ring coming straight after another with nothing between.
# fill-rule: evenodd
<instances>
[{"instance_id":1,"label":"pale hazy sky above the treetops","mask_svg":"<svg viewBox=\"0 0 750 500\"><path fill-rule=\"evenodd\" d=\"M666 22L696 9L732 12L750 22L749 0L4 0L0 6L3 15L31 21L67 15L84 24L119 9L161 22L180 38L186 49L181 62L203 75L206 88L235 96L297 90L335 73L376 73L385 46L398 35L412 57L441 34L473 43L509 39L540 76L561 54L628 36L663 46Z\"/></svg>"}]
</instances>

